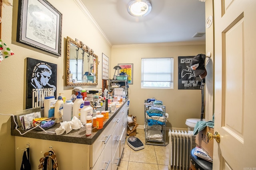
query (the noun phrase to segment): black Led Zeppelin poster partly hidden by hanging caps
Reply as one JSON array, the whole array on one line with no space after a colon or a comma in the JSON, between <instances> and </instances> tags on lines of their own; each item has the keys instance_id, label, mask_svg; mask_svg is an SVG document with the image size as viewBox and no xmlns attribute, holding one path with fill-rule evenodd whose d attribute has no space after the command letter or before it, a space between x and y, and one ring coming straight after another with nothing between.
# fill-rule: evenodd
<instances>
[{"instance_id":1,"label":"black Led Zeppelin poster partly hidden by hanging caps","mask_svg":"<svg viewBox=\"0 0 256 170\"><path fill-rule=\"evenodd\" d=\"M201 78L194 77L190 61L194 56L178 57L178 89L200 90Z\"/></svg>"}]
</instances>

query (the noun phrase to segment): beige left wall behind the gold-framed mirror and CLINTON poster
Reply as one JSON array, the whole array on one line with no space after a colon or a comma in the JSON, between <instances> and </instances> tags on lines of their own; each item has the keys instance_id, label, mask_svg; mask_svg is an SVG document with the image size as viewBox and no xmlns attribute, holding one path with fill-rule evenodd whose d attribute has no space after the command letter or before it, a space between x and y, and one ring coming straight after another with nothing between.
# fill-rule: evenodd
<instances>
[{"instance_id":1,"label":"beige left wall behind the gold-framed mirror and CLINTON poster","mask_svg":"<svg viewBox=\"0 0 256 170\"><path fill-rule=\"evenodd\" d=\"M86 15L73 0L48 0L62 13L62 55L51 55L16 42L18 0L10 0L11 6L2 8L2 41L12 49L14 56L4 59L0 63L0 113L15 114L24 109L25 104L25 59L26 57L58 64L57 93L69 98L74 87L66 86L66 37L78 38L99 57L98 86L102 86L102 53L111 59L111 47L88 20ZM82 88L86 88L83 86ZM25 146L20 146L20 148ZM15 169L15 143L10 135L10 116L0 115L0 167L1 169ZM22 152L22 151L20 151ZM6 162L6 163L5 163ZM8 162L8 163L7 163ZM16 167L17 168L17 167Z\"/></svg>"}]
</instances>

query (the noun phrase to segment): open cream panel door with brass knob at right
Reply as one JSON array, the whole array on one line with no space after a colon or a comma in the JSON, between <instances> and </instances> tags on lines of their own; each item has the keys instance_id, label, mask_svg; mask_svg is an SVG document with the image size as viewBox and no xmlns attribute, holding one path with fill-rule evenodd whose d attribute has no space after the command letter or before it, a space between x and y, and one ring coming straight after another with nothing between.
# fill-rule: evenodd
<instances>
[{"instance_id":1,"label":"open cream panel door with brass knob at right","mask_svg":"<svg viewBox=\"0 0 256 170\"><path fill-rule=\"evenodd\" d=\"M256 0L214 0L214 33L213 169L255 170Z\"/></svg>"}]
</instances>

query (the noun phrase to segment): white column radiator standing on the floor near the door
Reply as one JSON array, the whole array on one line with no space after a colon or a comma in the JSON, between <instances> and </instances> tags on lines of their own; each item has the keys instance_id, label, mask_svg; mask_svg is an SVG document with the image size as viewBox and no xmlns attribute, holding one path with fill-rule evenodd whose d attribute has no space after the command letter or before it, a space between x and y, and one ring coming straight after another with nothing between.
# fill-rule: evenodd
<instances>
[{"instance_id":1,"label":"white column radiator standing on the floor near the door","mask_svg":"<svg viewBox=\"0 0 256 170\"><path fill-rule=\"evenodd\" d=\"M193 131L169 130L170 170L188 170L190 168L190 151L195 144Z\"/></svg>"}]
</instances>

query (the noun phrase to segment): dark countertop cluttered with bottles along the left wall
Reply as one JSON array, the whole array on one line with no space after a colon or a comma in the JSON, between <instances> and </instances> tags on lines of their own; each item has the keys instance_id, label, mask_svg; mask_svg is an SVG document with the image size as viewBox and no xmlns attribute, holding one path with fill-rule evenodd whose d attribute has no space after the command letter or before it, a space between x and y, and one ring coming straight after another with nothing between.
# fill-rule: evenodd
<instances>
[{"instance_id":1,"label":"dark countertop cluttered with bottles along the left wall","mask_svg":"<svg viewBox=\"0 0 256 170\"><path fill-rule=\"evenodd\" d=\"M27 132L24 135L20 135L20 133L15 129L16 125L12 119L12 130L11 135L14 136L20 136L20 137L29 137L29 138L35 138L35 139L44 139L44 140L50 140L50 141L60 141L60 142L68 142L68 143L80 143L80 144L86 144L86 145L92 145L94 141L97 139L97 137L102 133L102 131L106 128L106 126L111 122L111 120L115 117L115 115L120 111L121 107L124 106L124 104L127 103L128 100L123 102L123 104L117 108L115 113L111 113L110 107L108 107L109 112L109 119L104 121L103 128L102 129L96 129L96 127L92 128L92 135L86 136L86 127L82 127L78 130L71 130L68 134L64 132L62 135L56 135L55 133L46 133L44 131L33 129L32 131ZM105 110L105 106L99 107L96 109L96 111ZM93 113L93 115L95 112ZM16 117L16 115L15 115ZM17 118L16 118L17 119ZM60 123L55 124L52 128L47 129L46 131L55 132L55 129L60 127ZM19 127L18 130L21 133L25 133L26 131L22 131Z\"/></svg>"}]
</instances>

